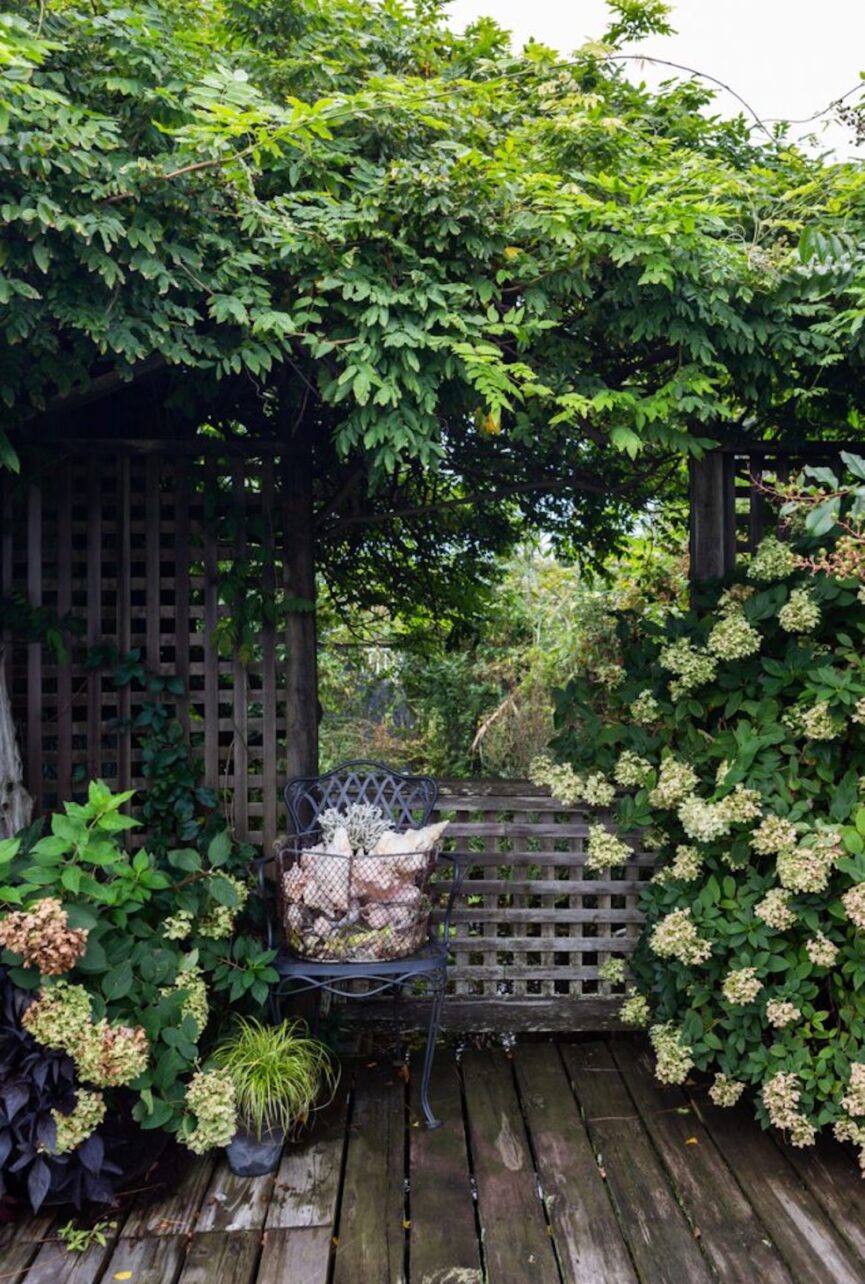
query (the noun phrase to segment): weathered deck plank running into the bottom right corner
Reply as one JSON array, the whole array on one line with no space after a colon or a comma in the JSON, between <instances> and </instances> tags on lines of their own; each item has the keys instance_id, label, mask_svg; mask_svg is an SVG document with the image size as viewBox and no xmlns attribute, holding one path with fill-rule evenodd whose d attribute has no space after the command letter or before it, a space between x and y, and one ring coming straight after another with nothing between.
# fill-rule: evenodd
<instances>
[{"instance_id":1,"label":"weathered deck plank running into the bottom right corner","mask_svg":"<svg viewBox=\"0 0 865 1284\"><path fill-rule=\"evenodd\" d=\"M692 1094L692 1100L694 1095ZM861 1284L865 1262L841 1238L820 1204L800 1181L771 1138L744 1107L720 1109L699 1100L699 1111L721 1154L802 1284ZM851 1165L851 1175L853 1166Z\"/></svg>"}]
</instances>

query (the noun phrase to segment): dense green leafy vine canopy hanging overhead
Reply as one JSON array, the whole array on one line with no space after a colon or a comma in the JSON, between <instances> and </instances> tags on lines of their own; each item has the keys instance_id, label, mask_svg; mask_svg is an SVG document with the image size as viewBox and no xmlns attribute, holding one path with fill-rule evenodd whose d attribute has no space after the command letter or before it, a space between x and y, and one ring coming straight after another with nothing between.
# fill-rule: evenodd
<instances>
[{"instance_id":1,"label":"dense green leafy vine canopy hanging overhead","mask_svg":"<svg viewBox=\"0 0 865 1284\"><path fill-rule=\"evenodd\" d=\"M855 429L860 169L634 86L666 9L612 8L565 60L440 0L8 5L8 422L164 365L191 428L305 424L345 565L608 539L725 425Z\"/></svg>"}]
</instances>

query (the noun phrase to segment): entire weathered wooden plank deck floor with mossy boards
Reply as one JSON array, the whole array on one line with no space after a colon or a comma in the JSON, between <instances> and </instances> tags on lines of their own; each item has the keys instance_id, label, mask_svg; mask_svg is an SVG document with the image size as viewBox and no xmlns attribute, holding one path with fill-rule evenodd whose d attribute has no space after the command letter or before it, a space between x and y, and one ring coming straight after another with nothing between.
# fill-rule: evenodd
<instances>
[{"instance_id":1,"label":"entire weathered wooden plank deck floor with mossy boards","mask_svg":"<svg viewBox=\"0 0 865 1284\"><path fill-rule=\"evenodd\" d=\"M445 1126L386 1063L275 1176L196 1161L105 1248L50 1219L4 1231L3 1284L862 1284L865 1183L832 1143L797 1152L705 1089L662 1089L642 1040L438 1058Z\"/></svg>"}]
</instances>

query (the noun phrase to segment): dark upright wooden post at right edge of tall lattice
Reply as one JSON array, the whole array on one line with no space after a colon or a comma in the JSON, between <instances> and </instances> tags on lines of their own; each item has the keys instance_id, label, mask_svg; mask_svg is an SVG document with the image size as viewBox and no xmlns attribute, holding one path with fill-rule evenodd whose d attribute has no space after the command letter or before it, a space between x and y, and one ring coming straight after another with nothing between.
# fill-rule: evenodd
<instances>
[{"instance_id":1,"label":"dark upright wooden post at right edge of tall lattice","mask_svg":"<svg viewBox=\"0 0 865 1284\"><path fill-rule=\"evenodd\" d=\"M302 421L282 457L286 774L318 770L318 661L316 655L316 548L313 533L314 426Z\"/></svg>"}]
</instances>

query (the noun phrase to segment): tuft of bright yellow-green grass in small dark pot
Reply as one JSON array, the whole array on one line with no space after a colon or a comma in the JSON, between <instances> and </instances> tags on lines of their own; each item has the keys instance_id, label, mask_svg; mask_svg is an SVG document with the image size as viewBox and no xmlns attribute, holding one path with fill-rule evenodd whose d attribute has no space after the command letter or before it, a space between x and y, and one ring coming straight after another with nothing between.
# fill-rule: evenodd
<instances>
[{"instance_id":1,"label":"tuft of bright yellow-green grass in small dark pot","mask_svg":"<svg viewBox=\"0 0 865 1284\"><path fill-rule=\"evenodd\" d=\"M239 1017L214 1049L212 1064L230 1079L237 1120L258 1140L273 1132L294 1135L339 1082L327 1048L309 1037L302 1021L270 1026Z\"/></svg>"}]
</instances>

